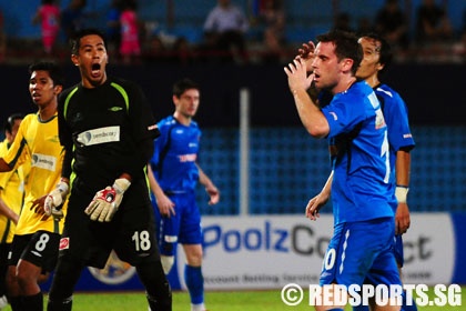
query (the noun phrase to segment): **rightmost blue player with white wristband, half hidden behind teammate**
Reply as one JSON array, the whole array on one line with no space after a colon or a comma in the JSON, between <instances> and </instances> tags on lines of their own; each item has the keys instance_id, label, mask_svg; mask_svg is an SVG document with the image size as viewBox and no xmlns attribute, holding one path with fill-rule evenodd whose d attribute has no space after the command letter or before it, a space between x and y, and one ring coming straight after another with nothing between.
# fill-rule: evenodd
<instances>
[{"instance_id":1,"label":"rightmost blue player with white wristband, half hidden behind teammate","mask_svg":"<svg viewBox=\"0 0 466 311\"><path fill-rule=\"evenodd\" d=\"M388 130L389 163L392 168L391 188L398 205L395 213L395 259L399 273L403 268L403 239L402 234L411 224L409 209L406 202L409 188L411 150L415 147L409 129L406 104L401 96L381 82L383 73L392 61L392 49L388 42L377 33L367 33L359 38L364 58L357 69L356 77L364 79L377 96ZM355 310L368 310L358 307ZM417 310L414 301L404 305L402 310Z\"/></svg>"}]
</instances>

